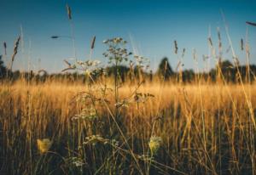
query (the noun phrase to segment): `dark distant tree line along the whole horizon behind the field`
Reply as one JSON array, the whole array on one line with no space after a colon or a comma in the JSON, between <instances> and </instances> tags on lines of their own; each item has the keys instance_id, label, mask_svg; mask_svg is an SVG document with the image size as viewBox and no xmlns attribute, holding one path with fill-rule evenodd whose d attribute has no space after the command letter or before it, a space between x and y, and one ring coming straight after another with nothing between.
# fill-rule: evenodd
<instances>
[{"instance_id":1,"label":"dark distant tree line along the whole horizon behind the field","mask_svg":"<svg viewBox=\"0 0 256 175\"><path fill-rule=\"evenodd\" d=\"M160 65L156 72L145 72L139 70L139 68L135 67L131 71L131 68L125 65L119 65L118 67L119 78L122 82L126 81L134 81L134 79L138 79L143 77L143 79L148 82L153 82L154 79L160 79L163 81L172 81L172 82L195 82L196 80L205 80L216 82L218 79L218 70L221 72L221 79L224 79L225 82L236 83L239 81L253 82L255 80L256 75L256 65L233 65L229 60L224 60L221 62L218 67L216 66L209 72L200 72L195 73L193 70L184 70L181 72L173 71L172 66L170 65L168 59L165 57L161 59ZM103 71L98 74L92 74L93 79L97 80L101 76L111 77L114 76L115 68L113 66L109 66L105 69L105 73ZM78 74L77 72L65 72L58 74L48 74L46 71L41 70L38 72L34 71L9 71L6 66L3 64L2 56L0 55L0 80L9 79L12 82L19 80L20 78L25 79L27 82L36 81L36 82L45 82L46 80L53 81L66 81L66 82L86 82L90 81L90 79L83 74ZM241 80L240 80L241 79Z\"/></svg>"}]
</instances>

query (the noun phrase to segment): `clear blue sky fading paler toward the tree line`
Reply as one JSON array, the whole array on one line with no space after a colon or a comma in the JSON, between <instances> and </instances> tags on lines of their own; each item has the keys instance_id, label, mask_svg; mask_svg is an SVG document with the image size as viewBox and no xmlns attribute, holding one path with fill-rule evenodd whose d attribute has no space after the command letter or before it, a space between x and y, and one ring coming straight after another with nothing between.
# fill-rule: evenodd
<instances>
[{"instance_id":1,"label":"clear blue sky fading paler toward the tree line","mask_svg":"<svg viewBox=\"0 0 256 175\"><path fill-rule=\"evenodd\" d=\"M61 71L63 59L73 57L73 44L68 38L53 40L52 35L70 36L66 3L72 8L75 44L78 59L88 59L90 39L96 35L93 58L104 61L102 41L111 37L123 37L151 62L155 70L164 56L174 69L177 57L173 54L173 41L178 48L186 48L185 68L194 68L193 48L196 49L202 68L202 54L208 54L207 36L211 26L212 41L218 46L217 27L220 27L224 49L228 48L227 37L220 9L230 27L230 37L241 63L245 54L240 51L240 39L245 38L245 21L256 22L256 1L252 0L206 0L206 1L152 1L152 0L1 0L0 42L7 42L12 54L15 38L24 34L24 47L19 49L15 69L24 69L31 60L31 67L50 72ZM256 27L248 27L252 62L256 64ZM131 42L130 42L131 43ZM0 54L3 54L2 49ZM224 57L231 59L230 54ZM38 64L38 59L41 63Z\"/></svg>"}]
</instances>

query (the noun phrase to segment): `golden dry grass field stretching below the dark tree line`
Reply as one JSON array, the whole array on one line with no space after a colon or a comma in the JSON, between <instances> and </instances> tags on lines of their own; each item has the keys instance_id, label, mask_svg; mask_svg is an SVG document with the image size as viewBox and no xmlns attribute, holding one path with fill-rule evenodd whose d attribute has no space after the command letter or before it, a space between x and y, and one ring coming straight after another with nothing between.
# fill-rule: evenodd
<instances>
[{"instance_id":1,"label":"golden dry grass field stretching below the dark tree line","mask_svg":"<svg viewBox=\"0 0 256 175\"><path fill-rule=\"evenodd\" d=\"M145 83L139 88L124 85L119 88L119 99L125 103L114 117L111 114L116 105L111 86L104 96L98 87L2 84L1 171L255 173L254 84ZM135 89L137 93L152 95L135 97ZM87 91L91 94L86 99L81 92ZM92 97L101 99L92 103L93 111L88 101ZM84 109L87 110L83 114ZM153 137L160 138L159 143L150 144ZM37 140L42 138L49 138L50 147L40 154ZM157 147L154 154L152 144Z\"/></svg>"}]
</instances>

